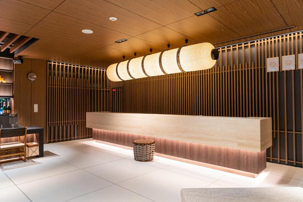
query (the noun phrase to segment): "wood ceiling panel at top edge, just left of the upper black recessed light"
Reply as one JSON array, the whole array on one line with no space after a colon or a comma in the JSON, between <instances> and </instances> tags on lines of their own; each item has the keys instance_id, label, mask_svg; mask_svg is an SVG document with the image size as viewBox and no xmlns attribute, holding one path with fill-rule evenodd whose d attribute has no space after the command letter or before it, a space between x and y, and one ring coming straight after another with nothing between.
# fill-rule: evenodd
<instances>
[{"instance_id":1,"label":"wood ceiling panel at top edge, just left of the upper black recessed light","mask_svg":"<svg viewBox=\"0 0 303 202\"><path fill-rule=\"evenodd\" d=\"M160 25L193 16L200 8L185 0L108 0L115 5L127 9L152 20Z\"/></svg>"}]
</instances>

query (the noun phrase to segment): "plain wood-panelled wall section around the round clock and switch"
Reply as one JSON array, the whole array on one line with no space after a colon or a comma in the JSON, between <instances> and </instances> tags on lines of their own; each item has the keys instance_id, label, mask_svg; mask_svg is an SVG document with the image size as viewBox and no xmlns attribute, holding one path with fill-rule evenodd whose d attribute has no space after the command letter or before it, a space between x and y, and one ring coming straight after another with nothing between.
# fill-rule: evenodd
<instances>
[{"instance_id":1,"label":"plain wood-panelled wall section around the round clock and switch","mask_svg":"<svg viewBox=\"0 0 303 202\"><path fill-rule=\"evenodd\" d=\"M14 112L18 114L19 125L46 128L47 61L23 60L23 64L14 66ZM27 78L30 72L37 75L33 82ZM38 104L38 112L34 112L34 104Z\"/></svg>"}]
</instances>

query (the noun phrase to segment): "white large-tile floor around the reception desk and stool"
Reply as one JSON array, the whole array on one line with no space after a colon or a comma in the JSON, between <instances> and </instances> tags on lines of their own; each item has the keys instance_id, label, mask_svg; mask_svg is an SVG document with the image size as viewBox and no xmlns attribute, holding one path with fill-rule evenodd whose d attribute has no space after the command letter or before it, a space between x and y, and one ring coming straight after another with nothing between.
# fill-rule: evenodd
<instances>
[{"instance_id":1,"label":"white large-tile floor around the reception desk and stool","mask_svg":"<svg viewBox=\"0 0 303 202\"><path fill-rule=\"evenodd\" d=\"M1 201L181 201L188 187L303 187L303 168L267 163L255 179L155 157L92 139L45 144L45 157L0 170Z\"/></svg>"}]
</instances>

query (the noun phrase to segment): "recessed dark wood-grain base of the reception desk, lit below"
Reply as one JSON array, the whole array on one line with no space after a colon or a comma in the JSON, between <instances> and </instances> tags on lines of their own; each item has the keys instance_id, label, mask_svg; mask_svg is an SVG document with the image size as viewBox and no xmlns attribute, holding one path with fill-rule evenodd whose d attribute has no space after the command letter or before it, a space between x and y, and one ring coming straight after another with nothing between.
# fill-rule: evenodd
<instances>
[{"instance_id":1,"label":"recessed dark wood-grain base of the reception desk, lit below","mask_svg":"<svg viewBox=\"0 0 303 202\"><path fill-rule=\"evenodd\" d=\"M152 139L155 140L155 152L160 154L158 156L248 177L255 177L266 168L266 150L245 151L95 128L92 130L92 137L97 141L126 147L132 147L136 139Z\"/></svg>"}]
</instances>

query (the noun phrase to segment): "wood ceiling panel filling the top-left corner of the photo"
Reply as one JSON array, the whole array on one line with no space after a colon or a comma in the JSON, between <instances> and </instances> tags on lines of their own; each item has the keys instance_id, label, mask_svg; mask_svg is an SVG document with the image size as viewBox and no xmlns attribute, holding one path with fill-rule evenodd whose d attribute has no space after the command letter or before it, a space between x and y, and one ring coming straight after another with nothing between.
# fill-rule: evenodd
<instances>
[{"instance_id":1,"label":"wood ceiling panel filling the top-left corner of the photo","mask_svg":"<svg viewBox=\"0 0 303 202\"><path fill-rule=\"evenodd\" d=\"M35 25L50 11L35 5L17 0L1 0L0 13L2 18ZM1 26L2 27L2 26Z\"/></svg>"}]
</instances>

